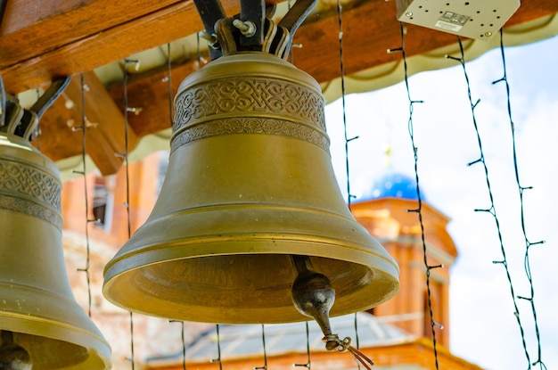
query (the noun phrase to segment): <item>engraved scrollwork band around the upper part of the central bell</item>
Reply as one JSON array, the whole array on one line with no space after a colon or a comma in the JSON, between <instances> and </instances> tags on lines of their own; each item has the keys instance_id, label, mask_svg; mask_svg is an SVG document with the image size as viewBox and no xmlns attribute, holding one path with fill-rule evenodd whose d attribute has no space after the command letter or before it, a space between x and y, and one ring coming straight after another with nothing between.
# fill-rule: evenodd
<instances>
[{"instance_id":1,"label":"engraved scrollwork band around the upper part of the central bell","mask_svg":"<svg viewBox=\"0 0 558 370\"><path fill-rule=\"evenodd\" d=\"M329 152L324 98L275 78L213 79L176 97L171 152L195 140L230 134L297 138Z\"/></svg>"}]
</instances>

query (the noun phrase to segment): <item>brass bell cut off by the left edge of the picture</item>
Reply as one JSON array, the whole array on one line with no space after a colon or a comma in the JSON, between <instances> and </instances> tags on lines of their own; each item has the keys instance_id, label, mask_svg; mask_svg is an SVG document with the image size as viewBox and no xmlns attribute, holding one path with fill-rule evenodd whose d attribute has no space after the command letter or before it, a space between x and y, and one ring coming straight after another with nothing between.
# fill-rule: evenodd
<instances>
[{"instance_id":1,"label":"brass bell cut off by the left edge of the picture","mask_svg":"<svg viewBox=\"0 0 558 370\"><path fill-rule=\"evenodd\" d=\"M0 132L1 368L111 367L109 344L70 290L61 189L52 160Z\"/></svg>"}]
</instances>

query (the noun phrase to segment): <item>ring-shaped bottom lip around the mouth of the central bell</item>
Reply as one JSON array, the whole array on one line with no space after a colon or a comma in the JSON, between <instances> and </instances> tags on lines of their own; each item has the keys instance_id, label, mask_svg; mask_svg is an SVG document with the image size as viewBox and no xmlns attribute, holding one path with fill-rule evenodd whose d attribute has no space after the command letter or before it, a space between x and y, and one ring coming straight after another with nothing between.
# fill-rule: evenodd
<instances>
[{"instance_id":1,"label":"ring-shaped bottom lip around the mouth of the central bell","mask_svg":"<svg viewBox=\"0 0 558 370\"><path fill-rule=\"evenodd\" d=\"M253 236L252 236L253 238ZM199 239L198 239L199 240ZM374 241L375 242L375 241ZM285 244L287 244L288 242L285 240ZM377 243L377 242L375 242ZM223 243L222 243L223 244ZM262 254L275 254L275 255L288 255L288 254L301 254L301 255L308 255L309 257L318 257L318 258L324 258L324 259L338 259L341 260L343 262L349 262L352 264L358 264L358 265L362 265L363 267L367 268L368 270L373 272L374 275L374 284L370 284L370 286L367 286L365 288L366 291L370 290L372 291L373 288L376 288L378 286L378 284L387 284L383 286L384 291L386 292L385 294L382 295L382 299L380 300L374 300L373 303L367 304L365 306L362 306L360 308L358 308L358 310L365 310L365 309L369 309L369 308L373 308L375 306L377 306L378 304L381 304L382 302L386 301L386 300L390 300L391 297L393 297L399 290L399 281L398 281L398 265L397 263L395 263L395 261L393 259L391 259L390 255L386 254L384 256L381 256L380 254L383 253L377 253L374 254L370 251L352 251L352 259L348 259L347 258L347 248L346 245L340 246L339 244L332 244L331 245L331 250L338 250L337 253L327 253L323 250L324 245L322 244L322 246L320 248L322 248L322 254L319 254L316 252L316 244L314 243L308 243L307 248L300 248L300 244L297 245L297 251L292 251L292 249L290 251L287 251L286 248L283 252L279 253L276 252L277 249L275 248L275 253L266 253L265 251L262 251L261 248L258 250L258 253L248 253L248 251L250 250L250 245L247 245L247 243L245 243L245 241L235 241L234 244L236 244L237 248L232 248L231 243L224 243L226 244L225 247L223 247L224 251L221 252L217 252L217 251L210 251L208 253L206 253L203 258L210 258L211 256L235 256L235 255L239 255L239 254L258 254L258 255L262 255ZM281 244L281 243L277 243L277 240L275 240L275 246L277 244ZM378 245L380 245L379 243L377 243ZM201 247L200 248L203 251L207 251L207 247ZM271 247L270 247L271 249ZM225 251L226 250L226 251ZM330 250L330 251L331 251ZM341 251L342 250L342 251ZM104 283L103 283L103 295L105 297L105 299L111 301L111 303L122 307L122 308L126 308L132 312L136 312L136 313L140 313L140 314L144 314L144 315L149 315L149 316L153 316L153 317L167 317L167 318L172 318L172 319L178 319L178 320L185 320L185 321L193 321L193 322L218 322L221 324L254 324L254 323L260 323L263 321L263 324L278 324L278 323L283 323L283 322L300 322L300 321L306 321L308 320L308 317L304 317L302 316L300 313L298 313L298 311L295 311L294 306L292 306L292 311L291 313L284 314L287 315L285 316L281 316L279 315L278 317L272 317L272 316L268 316L268 315L263 315L263 314L258 314L256 313L256 311L258 310L257 308L234 308L234 310L236 311L236 313L234 314L233 317L230 317L229 314L221 314L219 312L219 310L221 308L217 308L217 307L210 307L210 308L204 308L203 309L203 313L197 313L197 314L192 314L191 312L188 313L184 313L188 311L187 307L184 307L183 309L180 310L172 310L169 309L170 311L173 312L177 312L176 315L174 315L174 317L169 317L168 313L165 312L161 312L160 308L159 308L159 312L154 312L154 310L148 310L148 309L144 309L145 307L160 307L160 305L165 303L165 300L161 300L157 297L150 297L148 300L151 302L150 304L147 304L148 300L143 300L143 303L140 304L133 304L130 301L127 300L122 300L122 297L118 297L115 298L112 295L112 290L115 289L115 287L117 285L115 284L124 284L127 285L128 288L127 289L132 289L131 287L129 287L129 285L127 284L127 281L130 280L134 280L134 276L135 274L141 274L141 270L144 267L151 267L160 263L164 263L164 262L168 262L170 260L176 261L176 260L185 260L185 259L196 259L196 258L201 258L201 256L199 254L197 255L192 255L191 257L182 257L182 258L174 258L174 259L168 259L168 253L172 253L174 252L175 254L180 254L181 251L192 251L192 249L190 248L189 244L185 244L182 243L182 245L180 246L175 246L175 247L167 247L165 249L162 250L150 250L150 251L144 251L143 253L138 253L135 254L135 256L127 256L127 258L125 259L120 259L118 262L114 262L111 264L111 266L107 265L107 268L105 269L105 275L104 275ZM242 251L242 253L239 253L239 251ZM384 251L379 250L379 251ZM159 254L159 256L157 256ZM189 254L193 254L192 252L190 252ZM324 254L327 254L327 256L324 256ZM158 257L157 260L153 259L153 256ZM151 259L151 260L150 260ZM147 262L149 260L149 262ZM143 263L142 263L143 262ZM133 266L135 265L135 266ZM119 279L124 279L122 281L119 282ZM377 279L377 280L376 280ZM373 285L373 286L372 286ZM118 288L116 288L118 289ZM357 293L353 293L353 294L357 294ZM115 294L115 296L118 295L118 293ZM168 303L168 302L167 302ZM289 310L288 308L281 308L283 311L285 309ZM256 310L256 311L255 311ZM266 312L265 309L261 309L261 312ZM282 312L283 312L282 311ZM213 314L209 314L209 312L213 312ZM245 314L243 314L245 312ZM341 315L346 315L346 314L350 314L355 312L352 308L350 309L350 311L348 311L348 308L339 308L338 306L336 306L336 304L333 305L332 307L332 311L331 311L331 316L332 317L336 317L336 316L341 316ZM218 319L216 318L208 318L208 317L218 317ZM254 319L252 317L266 317L265 320L256 320L254 321Z\"/></svg>"}]
</instances>

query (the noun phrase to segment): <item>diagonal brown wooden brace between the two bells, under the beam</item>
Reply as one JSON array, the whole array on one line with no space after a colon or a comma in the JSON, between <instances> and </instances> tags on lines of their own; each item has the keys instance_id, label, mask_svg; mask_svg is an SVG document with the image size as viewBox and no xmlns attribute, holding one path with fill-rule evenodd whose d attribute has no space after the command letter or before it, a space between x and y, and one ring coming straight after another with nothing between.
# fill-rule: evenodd
<instances>
[{"instance_id":1,"label":"diagonal brown wooden brace between the two bells, under the beam","mask_svg":"<svg viewBox=\"0 0 558 370\"><path fill-rule=\"evenodd\" d=\"M103 176L114 174L122 164L117 154L126 152L125 119L94 72L84 74L86 153ZM37 144L41 152L52 160L60 160L82 152L81 81L72 78L62 97L44 115L41 136ZM134 149L137 136L127 129L128 151Z\"/></svg>"}]
</instances>

